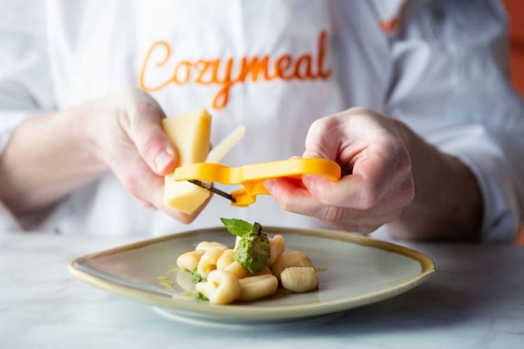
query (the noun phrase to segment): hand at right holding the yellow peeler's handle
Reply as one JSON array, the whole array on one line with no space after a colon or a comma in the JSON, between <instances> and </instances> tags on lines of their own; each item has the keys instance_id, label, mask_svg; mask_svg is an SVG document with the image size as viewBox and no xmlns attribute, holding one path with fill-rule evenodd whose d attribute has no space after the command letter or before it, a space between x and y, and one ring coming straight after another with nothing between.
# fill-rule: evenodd
<instances>
[{"instance_id":1,"label":"hand at right holding the yellow peeler's handle","mask_svg":"<svg viewBox=\"0 0 524 349\"><path fill-rule=\"evenodd\" d=\"M264 186L287 211L343 230L372 232L398 218L414 199L402 126L363 108L323 117L310 126L303 157L336 161L342 168L340 181L307 174L306 188L286 179L268 179Z\"/></svg>"}]
</instances>

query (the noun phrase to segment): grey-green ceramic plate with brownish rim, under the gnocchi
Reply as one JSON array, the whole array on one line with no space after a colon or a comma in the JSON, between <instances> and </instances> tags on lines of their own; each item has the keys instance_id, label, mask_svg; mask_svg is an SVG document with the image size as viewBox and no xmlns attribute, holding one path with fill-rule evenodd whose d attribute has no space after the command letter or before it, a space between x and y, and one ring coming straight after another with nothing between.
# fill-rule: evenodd
<instances>
[{"instance_id":1,"label":"grey-green ceramic plate with brownish rim, under the gnocchi","mask_svg":"<svg viewBox=\"0 0 524 349\"><path fill-rule=\"evenodd\" d=\"M264 227L286 239L286 252L303 251L319 269L319 290L277 292L252 303L214 305L179 286L178 255L201 241L233 246L223 227L148 239L76 258L69 270L78 279L116 295L152 304L163 315L195 323L275 325L314 322L333 313L379 302L427 280L435 265L409 248L333 230ZM187 273L187 272L185 272Z\"/></svg>"}]
</instances>

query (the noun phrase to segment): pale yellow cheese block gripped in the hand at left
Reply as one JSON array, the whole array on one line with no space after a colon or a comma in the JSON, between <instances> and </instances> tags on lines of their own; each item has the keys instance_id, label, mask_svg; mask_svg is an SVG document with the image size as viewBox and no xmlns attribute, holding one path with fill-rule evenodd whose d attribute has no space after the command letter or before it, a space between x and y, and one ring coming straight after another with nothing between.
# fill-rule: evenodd
<instances>
[{"instance_id":1,"label":"pale yellow cheese block gripped in the hand at left","mask_svg":"<svg viewBox=\"0 0 524 349\"><path fill-rule=\"evenodd\" d=\"M210 147L211 115L205 109L194 110L162 120L163 131L175 144L178 165L205 161ZM173 174L164 179L166 205L192 214L209 197L210 192L188 181L175 181Z\"/></svg>"}]
</instances>

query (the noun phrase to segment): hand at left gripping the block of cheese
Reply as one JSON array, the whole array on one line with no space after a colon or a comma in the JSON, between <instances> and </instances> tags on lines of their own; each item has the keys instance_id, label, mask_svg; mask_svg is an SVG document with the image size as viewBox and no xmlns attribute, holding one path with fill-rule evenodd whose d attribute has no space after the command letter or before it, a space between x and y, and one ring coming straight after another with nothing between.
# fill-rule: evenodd
<instances>
[{"instance_id":1,"label":"hand at left gripping the block of cheese","mask_svg":"<svg viewBox=\"0 0 524 349\"><path fill-rule=\"evenodd\" d=\"M191 215L163 202L163 175L175 169L177 151L160 127L166 115L157 101L140 89L126 89L90 106L85 127L97 157L140 203L191 223L207 201Z\"/></svg>"}]
</instances>

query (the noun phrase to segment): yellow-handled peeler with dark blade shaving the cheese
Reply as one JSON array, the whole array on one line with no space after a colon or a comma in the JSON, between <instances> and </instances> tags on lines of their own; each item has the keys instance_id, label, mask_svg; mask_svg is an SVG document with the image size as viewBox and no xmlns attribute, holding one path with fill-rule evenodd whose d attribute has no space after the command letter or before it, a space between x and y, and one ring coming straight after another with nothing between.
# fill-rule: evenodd
<instances>
[{"instance_id":1,"label":"yellow-handled peeler with dark blade shaving the cheese","mask_svg":"<svg viewBox=\"0 0 524 349\"><path fill-rule=\"evenodd\" d=\"M252 163L239 168L230 168L219 163L191 163L177 168L173 179L191 181L228 198L233 206L245 207L256 201L256 195L269 195L262 184L264 179L281 177L301 179L303 174L317 174L338 181L341 170L337 163L325 158L292 158L268 163ZM212 181L221 184L240 184L242 188L229 194L210 186L209 182Z\"/></svg>"}]
</instances>

